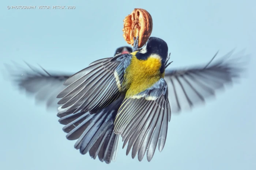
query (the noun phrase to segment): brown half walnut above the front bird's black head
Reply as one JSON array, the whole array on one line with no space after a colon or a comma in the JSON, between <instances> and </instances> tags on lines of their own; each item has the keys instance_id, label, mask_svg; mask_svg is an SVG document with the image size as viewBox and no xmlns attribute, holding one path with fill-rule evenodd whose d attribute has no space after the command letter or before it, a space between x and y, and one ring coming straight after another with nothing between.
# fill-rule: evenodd
<instances>
[{"instance_id":1,"label":"brown half walnut above the front bird's black head","mask_svg":"<svg viewBox=\"0 0 256 170\"><path fill-rule=\"evenodd\" d=\"M139 46L146 44L153 29L153 21L150 13L145 9L135 8L132 13L125 17L123 36L128 44L133 46L133 37L139 36Z\"/></svg>"}]
</instances>

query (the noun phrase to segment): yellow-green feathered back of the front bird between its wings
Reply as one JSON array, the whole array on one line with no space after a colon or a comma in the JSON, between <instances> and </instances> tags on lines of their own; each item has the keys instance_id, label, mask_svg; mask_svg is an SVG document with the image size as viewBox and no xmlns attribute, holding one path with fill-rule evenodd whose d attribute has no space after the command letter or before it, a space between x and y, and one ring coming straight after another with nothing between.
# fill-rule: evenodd
<instances>
[{"instance_id":1,"label":"yellow-green feathered back of the front bird between its wings","mask_svg":"<svg viewBox=\"0 0 256 170\"><path fill-rule=\"evenodd\" d=\"M146 90L162 78L164 74L160 73L161 66L161 57L156 54L147 60L138 60L136 56L132 56L131 64L124 75L123 90L127 90L125 97Z\"/></svg>"}]
</instances>

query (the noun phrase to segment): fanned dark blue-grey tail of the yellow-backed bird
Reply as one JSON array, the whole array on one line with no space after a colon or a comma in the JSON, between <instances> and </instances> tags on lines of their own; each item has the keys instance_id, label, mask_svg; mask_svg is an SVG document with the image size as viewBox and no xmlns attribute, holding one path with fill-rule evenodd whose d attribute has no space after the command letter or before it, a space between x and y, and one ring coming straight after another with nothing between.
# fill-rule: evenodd
<instances>
[{"instance_id":1,"label":"fanned dark blue-grey tail of the yellow-backed bird","mask_svg":"<svg viewBox=\"0 0 256 170\"><path fill-rule=\"evenodd\" d=\"M90 114L89 112L66 112L59 107L59 122L64 124L63 131L68 140L76 140L75 148L81 154L89 154L92 158L110 163L116 159L119 135L114 134L114 120L124 100L121 94L109 106Z\"/></svg>"}]
</instances>

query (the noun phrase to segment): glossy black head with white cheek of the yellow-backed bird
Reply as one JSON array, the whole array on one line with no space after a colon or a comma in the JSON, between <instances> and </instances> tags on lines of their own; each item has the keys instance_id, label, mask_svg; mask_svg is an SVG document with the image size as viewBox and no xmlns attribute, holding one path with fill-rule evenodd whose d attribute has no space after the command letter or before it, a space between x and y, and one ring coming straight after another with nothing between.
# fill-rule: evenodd
<instances>
[{"instance_id":1,"label":"glossy black head with white cheek of the yellow-backed bird","mask_svg":"<svg viewBox=\"0 0 256 170\"><path fill-rule=\"evenodd\" d=\"M159 55L162 58L162 63L165 63L168 55L167 43L160 38L150 37L146 46L144 46L136 56L138 59L146 60L152 54Z\"/></svg>"}]
</instances>

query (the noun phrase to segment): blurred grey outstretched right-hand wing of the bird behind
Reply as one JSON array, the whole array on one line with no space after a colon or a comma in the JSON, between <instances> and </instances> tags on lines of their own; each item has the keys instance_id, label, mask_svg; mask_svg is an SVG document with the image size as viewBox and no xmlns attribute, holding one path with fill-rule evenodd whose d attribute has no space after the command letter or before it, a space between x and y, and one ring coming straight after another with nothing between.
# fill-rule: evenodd
<instances>
[{"instance_id":1,"label":"blurred grey outstretched right-hand wing of the bird behind","mask_svg":"<svg viewBox=\"0 0 256 170\"><path fill-rule=\"evenodd\" d=\"M233 51L217 62L210 62L204 66L177 70L166 69L164 79L168 85L168 99L172 113L191 109L196 104L204 103L206 98L215 95L216 90L239 78L243 71L243 61L247 56L243 52L237 53L232 59L230 56L233 56Z\"/></svg>"}]
</instances>

